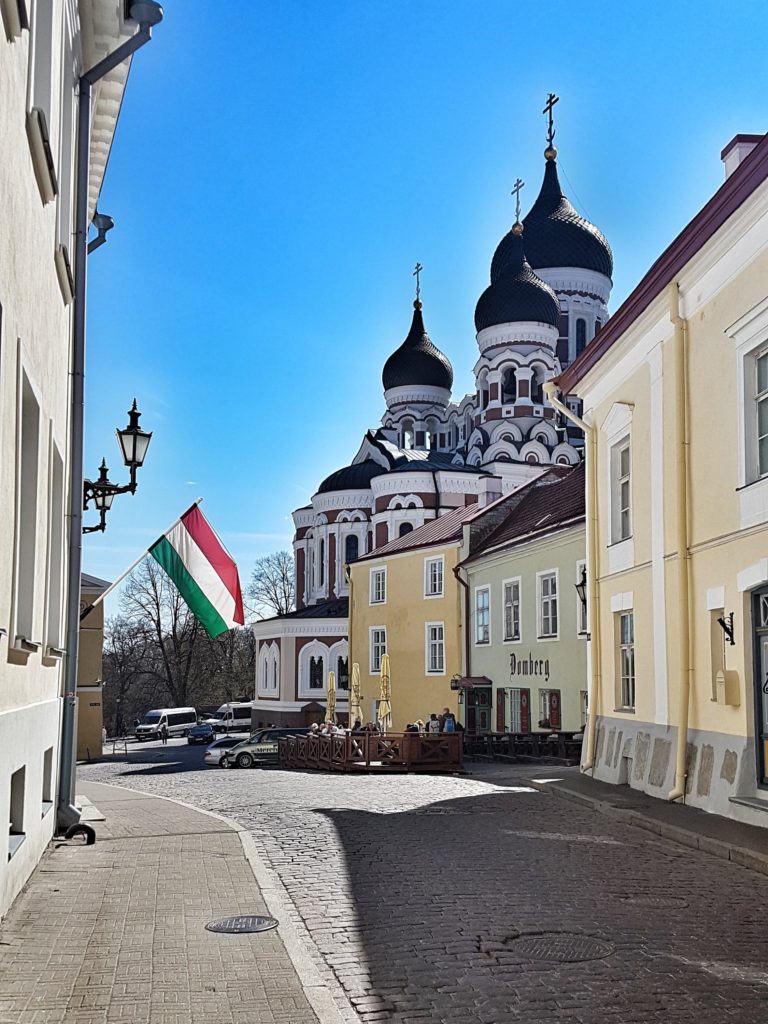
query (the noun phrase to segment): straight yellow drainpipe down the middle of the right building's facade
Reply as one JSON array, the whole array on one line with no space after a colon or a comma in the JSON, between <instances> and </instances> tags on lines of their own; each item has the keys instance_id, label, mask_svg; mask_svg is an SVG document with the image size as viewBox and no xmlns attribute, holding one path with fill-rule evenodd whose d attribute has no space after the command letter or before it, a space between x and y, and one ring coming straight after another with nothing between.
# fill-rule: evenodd
<instances>
[{"instance_id":1,"label":"straight yellow drainpipe down the middle of the right building's facade","mask_svg":"<svg viewBox=\"0 0 768 1024\"><path fill-rule=\"evenodd\" d=\"M680 656L677 756L675 785L667 795L670 801L685 798L688 713L693 673L690 622L690 525L688 515L688 324L680 315L680 288L677 282L668 287L670 319L675 327L675 476L677 481L677 580L678 580L678 651Z\"/></svg>"}]
</instances>

